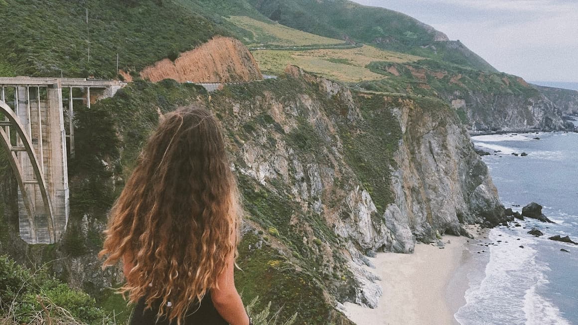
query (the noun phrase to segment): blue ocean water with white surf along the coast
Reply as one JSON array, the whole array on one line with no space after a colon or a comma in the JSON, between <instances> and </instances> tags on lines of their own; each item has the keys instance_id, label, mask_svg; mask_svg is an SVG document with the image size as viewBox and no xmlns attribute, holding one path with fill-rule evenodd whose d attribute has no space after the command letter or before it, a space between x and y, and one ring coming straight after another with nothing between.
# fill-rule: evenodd
<instances>
[{"instance_id":1,"label":"blue ocean water with white surf along the coast","mask_svg":"<svg viewBox=\"0 0 578 325\"><path fill-rule=\"evenodd\" d=\"M518 221L520 227L497 227L482 242L470 242L473 263L486 267L469 272L466 304L455 319L464 325L578 324L578 245L548 239L569 235L578 242L578 134L481 135L472 140L492 153L483 160L506 208L521 212L537 202L555 224L526 218ZM523 152L528 156L512 155ZM544 235L528 234L533 227Z\"/></svg>"}]
</instances>

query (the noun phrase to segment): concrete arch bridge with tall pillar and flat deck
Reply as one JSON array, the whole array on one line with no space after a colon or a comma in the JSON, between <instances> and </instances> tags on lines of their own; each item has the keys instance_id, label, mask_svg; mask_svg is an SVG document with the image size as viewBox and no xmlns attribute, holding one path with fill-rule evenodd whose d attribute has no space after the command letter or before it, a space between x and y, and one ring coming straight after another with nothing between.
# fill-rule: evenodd
<instances>
[{"instance_id":1,"label":"concrete arch bridge with tall pillar and flat deck","mask_svg":"<svg viewBox=\"0 0 578 325\"><path fill-rule=\"evenodd\" d=\"M75 102L90 108L124 85L114 80L0 77L0 146L8 153L18 182L18 220L24 241L58 242L66 230L66 144L73 156Z\"/></svg>"}]
</instances>

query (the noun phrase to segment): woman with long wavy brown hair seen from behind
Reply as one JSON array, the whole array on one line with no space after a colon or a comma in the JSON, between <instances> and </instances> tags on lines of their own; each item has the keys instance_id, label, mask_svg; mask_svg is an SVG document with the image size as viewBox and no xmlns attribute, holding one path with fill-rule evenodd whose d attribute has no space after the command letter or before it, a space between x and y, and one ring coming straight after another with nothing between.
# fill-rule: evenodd
<instances>
[{"instance_id":1,"label":"woman with long wavy brown hair seen from behind","mask_svg":"<svg viewBox=\"0 0 578 325\"><path fill-rule=\"evenodd\" d=\"M110 213L99 256L122 259L131 324L247 325L233 278L239 194L217 120L192 107L150 137Z\"/></svg>"}]
</instances>

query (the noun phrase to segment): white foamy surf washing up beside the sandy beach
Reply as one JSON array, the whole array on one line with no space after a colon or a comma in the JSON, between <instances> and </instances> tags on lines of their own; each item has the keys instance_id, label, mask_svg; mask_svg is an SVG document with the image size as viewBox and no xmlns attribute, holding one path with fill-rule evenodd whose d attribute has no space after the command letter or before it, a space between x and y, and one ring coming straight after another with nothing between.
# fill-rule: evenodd
<instances>
[{"instance_id":1,"label":"white foamy surf washing up beside the sandy beach","mask_svg":"<svg viewBox=\"0 0 578 325\"><path fill-rule=\"evenodd\" d=\"M492 229L488 239L498 245L490 245L485 276L477 283L470 281L466 304L455 319L464 325L552 324L554 320L567 324L560 311L536 292L547 283L544 271L548 269L536 261L537 251L532 248L536 240L501 228Z\"/></svg>"}]
</instances>

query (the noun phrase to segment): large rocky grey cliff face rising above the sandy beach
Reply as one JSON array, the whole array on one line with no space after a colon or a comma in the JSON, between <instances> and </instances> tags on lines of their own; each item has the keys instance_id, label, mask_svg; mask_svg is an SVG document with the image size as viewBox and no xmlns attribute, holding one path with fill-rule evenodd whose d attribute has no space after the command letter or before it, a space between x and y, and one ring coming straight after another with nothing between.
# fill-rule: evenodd
<instances>
[{"instance_id":1,"label":"large rocky grey cliff face rising above the sandy beach","mask_svg":"<svg viewBox=\"0 0 578 325\"><path fill-rule=\"evenodd\" d=\"M249 94L215 94L212 104L229 125L246 198L258 191L295 202L287 215L269 211L273 220L250 207L252 220L272 224L292 256L317 261L288 258L303 269L349 269L354 284L321 280L338 301L376 305L381 291L361 267L366 255L413 252L416 240L433 241L436 232L503 221L486 165L447 104L355 94L295 67L287 72L295 79L261 84L257 93L225 88ZM294 94L277 93L285 87Z\"/></svg>"}]
</instances>

